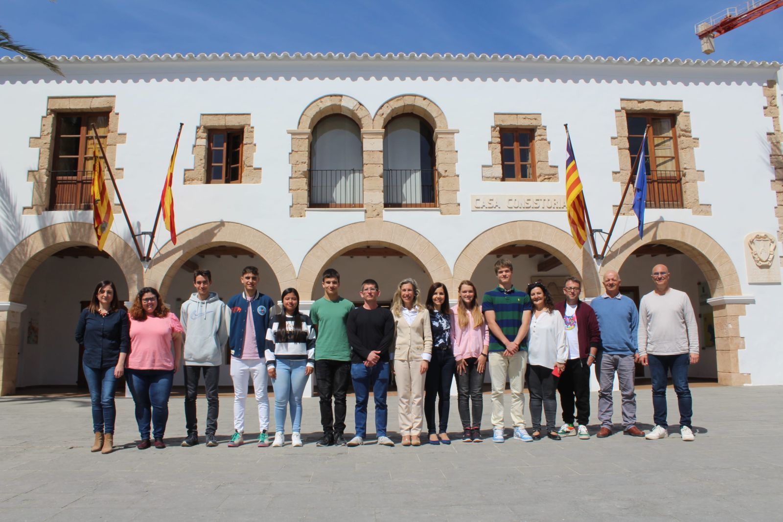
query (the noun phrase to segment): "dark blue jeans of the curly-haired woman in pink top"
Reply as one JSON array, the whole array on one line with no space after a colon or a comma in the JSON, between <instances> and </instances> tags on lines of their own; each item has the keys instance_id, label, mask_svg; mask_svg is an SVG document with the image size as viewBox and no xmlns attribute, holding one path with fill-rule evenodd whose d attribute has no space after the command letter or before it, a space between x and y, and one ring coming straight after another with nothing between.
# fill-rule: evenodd
<instances>
[{"instance_id":1,"label":"dark blue jeans of the curly-haired woman in pink top","mask_svg":"<svg viewBox=\"0 0 783 522\"><path fill-rule=\"evenodd\" d=\"M163 438L174 370L128 369L125 375L136 405L136 423L139 424L142 440L150 438L150 421L153 423L153 438Z\"/></svg>"}]
</instances>

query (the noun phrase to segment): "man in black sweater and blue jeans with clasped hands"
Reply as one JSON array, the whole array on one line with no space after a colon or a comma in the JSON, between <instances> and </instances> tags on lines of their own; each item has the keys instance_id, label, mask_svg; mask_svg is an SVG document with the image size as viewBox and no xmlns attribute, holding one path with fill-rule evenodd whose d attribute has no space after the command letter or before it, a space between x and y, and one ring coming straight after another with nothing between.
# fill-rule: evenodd
<instances>
[{"instance_id":1,"label":"man in black sweater and blue jeans with clasped hands","mask_svg":"<svg viewBox=\"0 0 783 522\"><path fill-rule=\"evenodd\" d=\"M375 432L378 444L393 446L386 436L386 392L389 387L389 346L394 338L391 311L378 307L381 290L373 279L365 279L359 296L363 306L348 314L348 341L351 343L351 378L356 395L356 435L348 446L364 444L367 429L367 403L370 389L375 399Z\"/></svg>"}]
</instances>

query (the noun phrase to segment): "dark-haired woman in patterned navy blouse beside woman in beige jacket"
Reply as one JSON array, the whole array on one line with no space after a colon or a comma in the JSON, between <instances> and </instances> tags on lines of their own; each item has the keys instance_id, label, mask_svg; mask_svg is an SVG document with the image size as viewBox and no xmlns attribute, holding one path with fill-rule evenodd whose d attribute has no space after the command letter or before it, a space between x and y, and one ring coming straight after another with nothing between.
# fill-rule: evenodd
<instances>
[{"instance_id":1,"label":"dark-haired woman in patterned navy blouse beside woman in beige jacket","mask_svg":"<svg viewBox=\"0 0 783 522\"><path fill-rule=\"evenodd\" d=\"M443 283L432 283L427 293L427 309L432 329L432 360L424 382L424 417L431 445L451 444L446 427L449 423L449 391L456 360L451 345L451 308L449 291ZM438 401L438 431L435 432L435 399Z\"/></svg>"}]
</instances>

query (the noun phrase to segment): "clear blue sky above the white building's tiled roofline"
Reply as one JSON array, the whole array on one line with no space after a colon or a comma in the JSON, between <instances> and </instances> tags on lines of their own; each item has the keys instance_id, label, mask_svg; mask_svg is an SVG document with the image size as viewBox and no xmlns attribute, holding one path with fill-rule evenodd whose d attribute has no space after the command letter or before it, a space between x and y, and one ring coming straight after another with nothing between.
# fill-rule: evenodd
<instances>
[{"instance_id":1,"label":"clear blue sky above the white building's tiled roofline","mask_svg":"<svg viewBox=\"0 0 783 522\"><path fill-rule=\"evenodd\" d=\"M703 59L695 23L744 2L2 0L0 26L56 56L331 51ZM778 9L716 38L709 58L783 61L781 27Z\"/></svg>"}]
</instances>

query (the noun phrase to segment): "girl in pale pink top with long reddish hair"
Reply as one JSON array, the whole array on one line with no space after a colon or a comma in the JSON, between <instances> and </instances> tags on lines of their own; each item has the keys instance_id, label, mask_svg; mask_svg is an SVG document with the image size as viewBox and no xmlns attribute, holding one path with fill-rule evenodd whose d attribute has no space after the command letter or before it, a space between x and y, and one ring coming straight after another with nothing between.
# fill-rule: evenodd
<instances>
[{"instance_id":1,"label":"girl in pale pink top with long reddish hair","mask_svg":"<svg viewBox=\"0 0 783 522\"><path fill-rule=\"evenodd\" d=\"M481 442L482 385L489 357L489 330L482 316L482 307L476 302L476 286L466 280L457 290L460 301L451 308L451 344L456 359L457 405L464 430L462 441ZM472 423L468 401L473 406Z\"/></svg>"}]
</instances>

